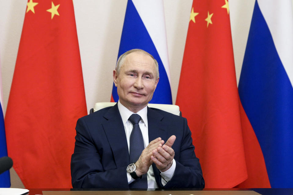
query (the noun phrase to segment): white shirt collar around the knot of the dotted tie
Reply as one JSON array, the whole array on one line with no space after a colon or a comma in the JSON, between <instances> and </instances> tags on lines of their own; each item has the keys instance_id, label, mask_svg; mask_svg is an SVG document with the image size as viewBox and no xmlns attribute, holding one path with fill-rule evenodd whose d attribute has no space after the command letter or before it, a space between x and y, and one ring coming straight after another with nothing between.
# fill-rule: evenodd
<instances>
[{"instance_id":1,"label":"white shirt collar around the knot of the dotted tie","mask_svg":"<svg viewBox=\"0 0 293 195\"><path fill-rule=\"evenodd\" d=\"M143 120L144 124L147 126L147 106L144 107L143 109L141 109L140 111L138 111L137 113L131 112L130 110L128 110L124 105L122 105L120 103L120 101L118 100L118 110L120 112L121 118L122 118L122 122L123 125L125 125L125 123L128 121L129 117L132 114L138 114L141 119Z\"/></svg>"}]
</instances>

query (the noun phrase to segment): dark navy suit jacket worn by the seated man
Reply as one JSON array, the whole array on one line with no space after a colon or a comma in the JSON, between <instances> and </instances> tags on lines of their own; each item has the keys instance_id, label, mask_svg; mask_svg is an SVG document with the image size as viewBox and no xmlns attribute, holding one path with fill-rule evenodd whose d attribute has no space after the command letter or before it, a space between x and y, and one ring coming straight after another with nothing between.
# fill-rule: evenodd
<instances>
[{"instance_id":1,"label":"dark navy suit jacket worn by the seated man","mask_svg":"<svg viewBox=\"0 0 293 195\"><path fill-rule=\"evenodd\" d=\"M176 168L165 186L160 171L152 165L159 188L204 188L187 120L149 107L147 120L149 141L161 137L166 142L170 136L176 136L172 146ZM74 188L129 188L126 174L129 164L125 129L117 104L78 119L71 157Z\"/></svg>"}]
</instances>

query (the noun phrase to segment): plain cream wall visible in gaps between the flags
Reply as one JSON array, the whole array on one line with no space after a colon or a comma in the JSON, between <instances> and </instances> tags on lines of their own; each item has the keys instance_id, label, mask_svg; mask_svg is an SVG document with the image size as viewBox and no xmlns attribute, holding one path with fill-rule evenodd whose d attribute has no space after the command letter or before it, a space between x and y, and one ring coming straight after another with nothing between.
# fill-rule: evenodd
<instances>
[{"instance_id":1,"label":"plain cream wall visible in gaps between the flags","mask_svg":"<svg viewBox=\"0 0 293 195\"><path fill-rule=\"evenodd\" d=\"M223 5L225 1L223 1ZM38 2L35 0L35 2ZM73 0L88 111L110 101L127 0ZM292 0L293 2L293 0ZM230 20L239 80L255 0L230 0ZM0 0L0 60L6 112L27 0ZM164 0L171 90L175 104L192 0ZM20 102L21 104L21 102ZM12 187L22 187L12 173Z\"/></svg>"}]
</instances>

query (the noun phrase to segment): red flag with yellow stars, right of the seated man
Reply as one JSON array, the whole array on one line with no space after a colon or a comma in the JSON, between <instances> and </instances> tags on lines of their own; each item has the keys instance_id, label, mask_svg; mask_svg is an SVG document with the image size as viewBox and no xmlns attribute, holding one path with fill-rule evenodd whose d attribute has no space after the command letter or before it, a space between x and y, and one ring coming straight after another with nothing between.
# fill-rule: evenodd
<instances>
[{"instance_id":1,"label":"red flag with yellow stars, right of the seated man","mask_svg":"<svg viewBox=\"0 0 293 195\"><path fill-rule=\"evenodd\" d=\"M176 105L188 120L206 188L247 178L229 6L194 0Z\"/></svg>"}]
</instances>

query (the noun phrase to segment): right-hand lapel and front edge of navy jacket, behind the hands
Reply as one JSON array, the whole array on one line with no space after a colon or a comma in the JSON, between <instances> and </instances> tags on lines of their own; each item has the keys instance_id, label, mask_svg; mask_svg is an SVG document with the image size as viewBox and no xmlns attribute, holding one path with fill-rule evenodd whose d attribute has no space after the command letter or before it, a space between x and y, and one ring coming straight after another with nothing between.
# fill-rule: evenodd
<instances>
[{"instance_id":1,"label":"right-hand lapel and front edge of navy jacket, behind the hands","mask_svg":"<svg viewBox=\"0 0 293 195\"><path fill-rule=\"evenodd\" d=\"M168 126L162 122L164 116L159 114L157 111L147 108L147 123L148 123L148 134L149 134L149 142L156 139L157 137L161 137L165 142L168 140L167 137L167 128ZM152 165L156 182L159 187L163 187L161 183L161 175L160 170L157 169L156 165L153 163Z\"/></svg>"}]
</instances>

